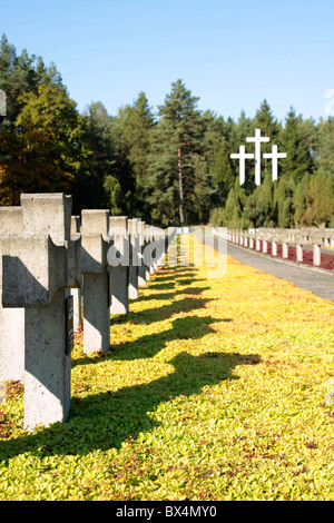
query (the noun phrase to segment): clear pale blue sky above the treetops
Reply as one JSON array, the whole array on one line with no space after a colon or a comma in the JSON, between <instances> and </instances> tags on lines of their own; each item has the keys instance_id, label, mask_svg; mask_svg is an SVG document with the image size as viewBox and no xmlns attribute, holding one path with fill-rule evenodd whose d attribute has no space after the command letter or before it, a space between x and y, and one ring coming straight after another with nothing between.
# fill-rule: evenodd
<instances>
[{"instance_id":1,"label":"clear pale blue sky above the treetops","mask_svg":"<svg viewBox=\"0 0 334 523\"><path fill-rule=\"evenodd\" d=\"M291 106L326 118L333 0L16 0L0 14L18 53L56 63L80 111L100 100L116 115L140 91L156 111L180 78L224 118L254 117L265 98L282 120Z\"/></svg>"}]
</instances>

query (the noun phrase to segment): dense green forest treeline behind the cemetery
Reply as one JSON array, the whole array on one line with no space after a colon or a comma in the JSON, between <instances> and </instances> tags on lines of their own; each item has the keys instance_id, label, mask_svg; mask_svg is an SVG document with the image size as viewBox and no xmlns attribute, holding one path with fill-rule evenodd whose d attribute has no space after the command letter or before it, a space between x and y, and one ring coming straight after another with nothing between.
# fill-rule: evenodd
<instances>
[{"instance_id":1,"label":"dense green forest treeline behind the cemetery","mask_svg":"<svg viewBox=\"0 0 334 523\"><path fill-rule=\"evenodd\" d=\"M21 193L63 191L73 213L109 208L159 226L210 224L247 227L334 227L334 118L303 119L289 108L278 121L264 100L254 118L237 121L212 110L181 80L155 112L145 92L109 115L101 101L80 114L61 75L41 57L20 55L6 36L0 42L0 205L19 205ZM262 185L254 161L239 186L238 161L230 159L246 137L271 138L287 154L272 181L271 160L262 160Z\"/></svg>"}]
</instances>

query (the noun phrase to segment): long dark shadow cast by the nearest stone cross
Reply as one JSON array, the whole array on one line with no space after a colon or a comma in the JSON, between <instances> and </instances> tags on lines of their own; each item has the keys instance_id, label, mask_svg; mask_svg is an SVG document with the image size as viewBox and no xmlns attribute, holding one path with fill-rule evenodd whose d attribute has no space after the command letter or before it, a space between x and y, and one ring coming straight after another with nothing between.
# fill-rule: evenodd
<instances>
[{"instance_id":1,"label":"long dark shadow cast by the nearest stone cross","mask_svg":"<svg viewBox=\"0 0 334 523\"><path fill-rule=\"evenodd\" d=\"M207 329L207 325L202 325L203 334ZM237 365L256 365L259 357L218 352L193 356L180 352L168 363L170 373L149 383L90 394L82 399L72 398L66 423L56 423L36 434L0 442L0 460L7 461L24 452L42 458L86 455L96 450L119 450L124 442L159 426L154 413L161 403L173 402L178 396L186 399L200 394L204 386L237 379L234 368Z\"/></svg>"}]
</instances>

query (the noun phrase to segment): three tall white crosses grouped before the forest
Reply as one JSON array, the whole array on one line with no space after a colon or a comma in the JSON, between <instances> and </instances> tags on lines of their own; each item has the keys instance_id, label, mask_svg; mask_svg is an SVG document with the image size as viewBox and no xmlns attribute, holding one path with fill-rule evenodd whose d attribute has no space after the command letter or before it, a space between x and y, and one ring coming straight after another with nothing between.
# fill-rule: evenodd
<instances>
[{"instance_id":1,"label":"three tall white crosses grouped before the forest","mask_svg":"<svg viewBox=\"0 0 334 523\"><path fill-rule=\"evenodd\" d=\"M246 138L246 141L255 142L255 184L261 185L261 144L265 141L271 141L271 138L266 136L261 136L261 129L255 130L255 136ZM277 146L272 147L272 152L263 155L264 158L271 158L272 164L272 179L277 180L277 161L278 158L286 158L286 152L278 152ZM239 147L239 152L230 155L230 158L239 160L239 182L243 185L245 182L245 160L253 159L254 155L245 151L245 146Z\"/></svg>"}]
</instances>

